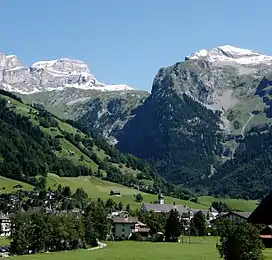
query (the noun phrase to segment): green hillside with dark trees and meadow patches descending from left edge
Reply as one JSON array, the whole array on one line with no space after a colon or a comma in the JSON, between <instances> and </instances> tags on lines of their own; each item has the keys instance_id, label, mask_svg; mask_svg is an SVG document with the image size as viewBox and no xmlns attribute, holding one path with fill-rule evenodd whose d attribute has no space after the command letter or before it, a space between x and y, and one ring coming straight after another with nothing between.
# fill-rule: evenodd
<instances>
[{"instance_id":1,"label":"green hillside with dark trees and meadow patches descending from left edge","mask_svg":"<svg viewBox=\"0 0 272 260\"><path fill-rule=\"evenodd\" d=\"M42 106L26 105L0 92L0 175L39 185L48 172L96 176L142 191L189 199L188 190L167 184L148 163L120 153L73 121L64 122Z\"/></svg>"}]
</instances>

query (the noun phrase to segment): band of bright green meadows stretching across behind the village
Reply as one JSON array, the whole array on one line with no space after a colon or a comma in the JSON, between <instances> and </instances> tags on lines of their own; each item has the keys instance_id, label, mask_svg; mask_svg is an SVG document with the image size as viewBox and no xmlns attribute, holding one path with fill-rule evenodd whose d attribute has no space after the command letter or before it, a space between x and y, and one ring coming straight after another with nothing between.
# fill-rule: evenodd
<instances>
[{"instance_id":1,"label":"band of bright green meadows stretching across behind the village","mask_svg":"<svg viewBox=\"0 0 272 260\"><path fill-rule=\"evenodd\" d=\"M9 193L14 191L13 186L16 184L21 184L25 190L30 190L33 187L29 184L8 179L0 176L0 193ZM117 203L122 202L124 206L130 204L132 209L137 209L141 206L142 203L137 203L135 201L135 195L139 193L138 190L113 183L108 181L103 181L101 179L97 179L94 177L59 177L55 174L48 174L47 177L47 186L51 188L56 188L58 184L62 186L70 186L72 191L75 191L77 188L83 188L91 199L101 198L103 200L107 200L111 196L109 192L111 190L118 190L121 192L122 196L120 197L111 197ZM3 189L5 187L5 189ZM140 192L143 195L143 203L150 203L157 200L157 195L148 194L144 192ZM225 201L231 208L240 211L252 211L256 207L256 201L254 200L238 200L238 199L217 199L211 196L203 196L199 197L198 203L194 203L191 201L175 199L171 197L165 197L165 203L175 203L177 205L187 205L193 209L207 209L211 206L214 200L222 200Z\"/></svg>"}]
</instances>

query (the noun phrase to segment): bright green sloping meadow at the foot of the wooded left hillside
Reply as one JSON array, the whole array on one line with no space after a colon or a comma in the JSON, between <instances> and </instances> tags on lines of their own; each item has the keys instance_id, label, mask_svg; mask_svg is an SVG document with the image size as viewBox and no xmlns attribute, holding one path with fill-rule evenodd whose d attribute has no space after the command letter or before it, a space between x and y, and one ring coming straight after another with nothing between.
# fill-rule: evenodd
<instances>
[{"instance_id":1,"label":"bright green sloping meadow at the foot of the wooded left hillside","mask_svg":"<svg viewBox=\"0 0 272 260\"><path fill-rule=\"evenodd\" d=\"M138 190L128 188L117 183L103 181L101 179L97 179L94 177L71 178L71 177L59 177L54 174L49 174L47 178L47 185L54 188L54 187L57 187L58 184L61 184L63 186L64 185L70 186L72 191L75 191L77 188L83 188L88 193L91 199L101 198L106 200L111 197L109 196L109 192L111 190L119 190L122 196L112 197L116 202L122 201L124 206L126 206L127 204L130 204L130 206L133 209L139 208L142 204L142 203L135 202L134 195L139 193ZM150 203L157 200L157 195L147 194L144 192L141 192L141 193L144 198L143 202ZM174 201L177 205L187 205L195 209L208 208L208 205L202 205L202 204L197 204L190 201L174 199L171 197L165 197L165 203L173 203Z\"/></svg>"}]
</instances>

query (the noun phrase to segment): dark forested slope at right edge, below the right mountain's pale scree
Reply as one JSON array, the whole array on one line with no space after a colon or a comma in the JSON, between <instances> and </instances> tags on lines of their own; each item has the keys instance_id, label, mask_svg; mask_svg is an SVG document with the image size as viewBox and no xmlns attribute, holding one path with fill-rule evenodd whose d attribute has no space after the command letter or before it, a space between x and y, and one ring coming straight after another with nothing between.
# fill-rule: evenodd
<instances>
[{"instance_id":1,"label":"dark forested slope at right edge, below the right mountain's pale scree","mask_svg":"<svg viewBox=\"0 0 272 260\"><path fill-rule=\"evenodd\" d=\"M267 125L253 128L240 141L234 158L213 176L210 192L256 199L271 191L271 183L272 129Z\"/></svg>"}]
</instances>

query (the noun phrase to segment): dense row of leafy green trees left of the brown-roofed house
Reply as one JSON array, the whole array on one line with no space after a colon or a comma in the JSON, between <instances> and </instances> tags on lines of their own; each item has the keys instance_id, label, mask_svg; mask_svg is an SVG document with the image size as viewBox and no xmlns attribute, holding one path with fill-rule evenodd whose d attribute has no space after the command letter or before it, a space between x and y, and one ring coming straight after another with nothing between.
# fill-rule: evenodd
<instances>
[{"instance_id":1,"label":"dense row of leafy green trees left of the brown-roofed house","mask_svg":"<svg viewBox=\"0 0 272 260\"><path fill-rule=\"evenodd\" d=\"M16 255L97 246L106 239L107 212L101 201L90 202L83 215L17 212L11 218L11 253Z\"/></svg>"}]
</instances>

